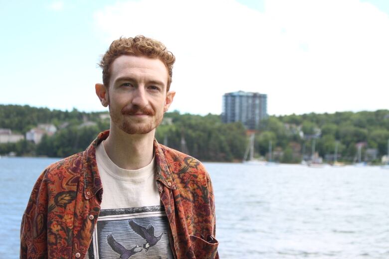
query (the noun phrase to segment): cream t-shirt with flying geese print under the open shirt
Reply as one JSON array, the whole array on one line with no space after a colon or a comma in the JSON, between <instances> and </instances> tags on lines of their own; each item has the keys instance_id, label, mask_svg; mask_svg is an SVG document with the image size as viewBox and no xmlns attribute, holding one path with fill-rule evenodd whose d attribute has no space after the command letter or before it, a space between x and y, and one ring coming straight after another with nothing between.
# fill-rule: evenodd
<instances>
[{"instance_id":1,"label":"cream t-shirt with flying geese print under the open shirt","mask_svg":"<svg viewBox=\"0 0 389 259\"><path fill-rule=\"evenodd\" d=\"M112 162L101 143L96 161L103 199L86 258L173 258L155 158L143 168L126 170Z\"/></svg>"}]
</instances>

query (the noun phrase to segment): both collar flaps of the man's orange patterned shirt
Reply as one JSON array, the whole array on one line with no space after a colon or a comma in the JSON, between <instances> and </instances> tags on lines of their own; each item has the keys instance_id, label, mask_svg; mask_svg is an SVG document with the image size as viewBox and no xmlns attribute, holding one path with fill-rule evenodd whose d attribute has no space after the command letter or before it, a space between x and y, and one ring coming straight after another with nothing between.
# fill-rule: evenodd
<instances>
[{"instance_id":1,"label":"both collar flaps of the man's orange patterned shirt","mask_svg":"<svg viewBox=\"0 0 389 259\"><path fill-rule=\"evenodd\" d=\"M96 147L109 135L109 130L98 134L97 138L83 152L83 171L84 171L84 196L86 199L92 198L103 188L101 178L97 169ZM170 189L175 189L172 180L172 173L166 161L163 147L154 138L154 152L157 162L157 180Z\"/></svg>"}]
</instances>

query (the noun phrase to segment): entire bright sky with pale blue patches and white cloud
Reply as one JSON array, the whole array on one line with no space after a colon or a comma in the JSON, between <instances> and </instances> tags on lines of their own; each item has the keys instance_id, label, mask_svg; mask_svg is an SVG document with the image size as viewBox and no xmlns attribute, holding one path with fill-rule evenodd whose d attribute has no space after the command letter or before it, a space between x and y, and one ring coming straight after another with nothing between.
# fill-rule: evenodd
<instances>
[{"instance_id":1,"label":"entire bright sky with pale blue patches and white cloud","mask_svg":"<svg viewBox=\"0 0 389 259\"><path fill-rule=\"evenodd\" d=\"M389 109L387 0L1 0L0 23L0 104L106 111L97 63L143 34L176 56L170 110L239 90L270 115Z\"/></svg>"}]
</instances>

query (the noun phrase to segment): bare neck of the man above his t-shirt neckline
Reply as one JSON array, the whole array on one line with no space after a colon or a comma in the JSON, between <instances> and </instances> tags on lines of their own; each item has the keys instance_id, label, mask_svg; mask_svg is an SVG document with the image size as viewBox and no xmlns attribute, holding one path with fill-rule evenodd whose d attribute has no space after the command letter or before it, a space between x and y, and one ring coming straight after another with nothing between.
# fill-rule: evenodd
<instances>
[{"instance_id":1,"label":"bare neck of the man above his t-shirt neckline","mask_svg":"<svg viewBox=\"0 0 389 259\"><path fill-rule=\"evenodd\" d=\"M128 134L111 126L109 136L104 141L104 148L117 166L136 170L145 167L153 159L154 134L155 129L147 134Z\"/></svg>"}]
</instances>

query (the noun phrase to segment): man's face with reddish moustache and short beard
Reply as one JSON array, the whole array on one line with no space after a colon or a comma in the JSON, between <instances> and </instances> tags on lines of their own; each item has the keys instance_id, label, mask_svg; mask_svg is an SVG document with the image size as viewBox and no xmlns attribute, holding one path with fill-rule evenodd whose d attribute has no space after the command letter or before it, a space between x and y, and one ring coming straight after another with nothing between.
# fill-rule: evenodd
<instances>
[{"instance_id":1,"label":"man's face with reddish moustache and short beard","mask_svg":"<svg viewBox=\"0 0 389 259\"><path fill-rule=\"evenodd\" d=\"M166 92L168 69L159 59L122 55L111 67L111 124L128 134L146 134L161 123L174 92Z\"/></svg>"}]
</instances>

